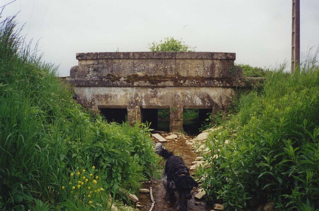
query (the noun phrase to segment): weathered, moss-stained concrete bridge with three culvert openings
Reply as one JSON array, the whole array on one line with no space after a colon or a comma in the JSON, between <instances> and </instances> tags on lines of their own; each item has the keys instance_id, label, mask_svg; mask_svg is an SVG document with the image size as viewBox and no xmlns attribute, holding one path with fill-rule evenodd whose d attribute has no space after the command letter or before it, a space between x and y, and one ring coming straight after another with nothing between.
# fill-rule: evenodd
<instances>
[{"instance_id":1,"label":"weathered, moss-stained concrete bridge with three culvert openings","mask_svg":"<svg viewBox=\"0 0 319 211\"><path fill-rule=\"evenodd\" d=\"M225 109L234 88L243 86L235 53L100 52L77 53L78 66L67 80L79 103L130 124L152 121L170 111L170 131L183 129L183 109L216 113Z\"/></svg>"}]
</instances>

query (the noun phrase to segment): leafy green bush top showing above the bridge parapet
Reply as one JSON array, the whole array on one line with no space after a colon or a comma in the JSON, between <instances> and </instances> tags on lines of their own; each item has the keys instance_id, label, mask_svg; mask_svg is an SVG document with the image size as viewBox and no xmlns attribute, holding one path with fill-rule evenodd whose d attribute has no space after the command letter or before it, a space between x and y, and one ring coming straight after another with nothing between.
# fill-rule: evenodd
<instances>
[{"instance_id":1,"label":"leafy green bush top showing above the bridge parapet","mask_svg":"<svg viewBox=\"0 0 319 211\"><path fill-rule=\"evenodd\" d=\"M165 37L164 42L162 40L159 43L152 42L148 44L148 48L152 52L159 51L184 51L191 52L195 51L195 47L184 44L182 40L175 40L173 37Z\"/></svg>"}]
</instances>

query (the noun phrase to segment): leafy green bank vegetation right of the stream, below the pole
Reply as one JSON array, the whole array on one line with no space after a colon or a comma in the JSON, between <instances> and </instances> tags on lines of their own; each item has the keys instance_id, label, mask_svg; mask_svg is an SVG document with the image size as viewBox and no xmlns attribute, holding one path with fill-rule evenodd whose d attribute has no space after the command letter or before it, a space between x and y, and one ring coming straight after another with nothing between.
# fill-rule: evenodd
<instances>
[{"instance_id":1,"label":"leafy green bank vegetation right of the stream, below the pole","mask_svg":"<svg viewBox=\"0 0 319 211\"><path fill-rule=\"evenodd\" d=\"M319 208L315 61L300 73L267 73L263 92L241 96L238 113L211 133L205 156L211 168L197 172L209 202L227 210L256 209L270 200L277 210Z\"/></svg>"}]
</instances>

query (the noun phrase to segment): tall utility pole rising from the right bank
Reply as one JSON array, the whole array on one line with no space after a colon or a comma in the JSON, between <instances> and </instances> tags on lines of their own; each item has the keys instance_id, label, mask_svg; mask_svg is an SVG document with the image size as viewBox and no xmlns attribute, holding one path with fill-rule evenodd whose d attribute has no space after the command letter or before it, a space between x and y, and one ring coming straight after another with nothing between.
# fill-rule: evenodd
<instances>
[{"instance_id":1,"label":"tall utility pole rising from the right bank","mask_svg":"<svg viewBox=\"0 0 319 211\"><path fill-rule=\"evenodd\" d=\"M300 0L293 0L291 73L300 65Z\"/></svg>"}]
</instances>

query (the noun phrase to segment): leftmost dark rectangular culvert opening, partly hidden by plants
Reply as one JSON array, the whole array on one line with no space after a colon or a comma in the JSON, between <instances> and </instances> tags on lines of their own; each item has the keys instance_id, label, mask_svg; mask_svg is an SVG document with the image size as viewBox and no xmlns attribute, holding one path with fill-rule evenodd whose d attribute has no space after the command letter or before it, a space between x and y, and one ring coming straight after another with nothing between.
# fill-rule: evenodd
<instances>
[{"instance_id":1,"label":"leftmost dark rectangular culvert opening, partly hidden by plants","mask_svg":"<svg viewBox=\"0 0 319 211\"><path fill-rule=\"evenodd\" d=\"M117 122L122 124L127 118L126 108L100 108L100 114L108 122Z\"/></svg>"}]
</instances>

